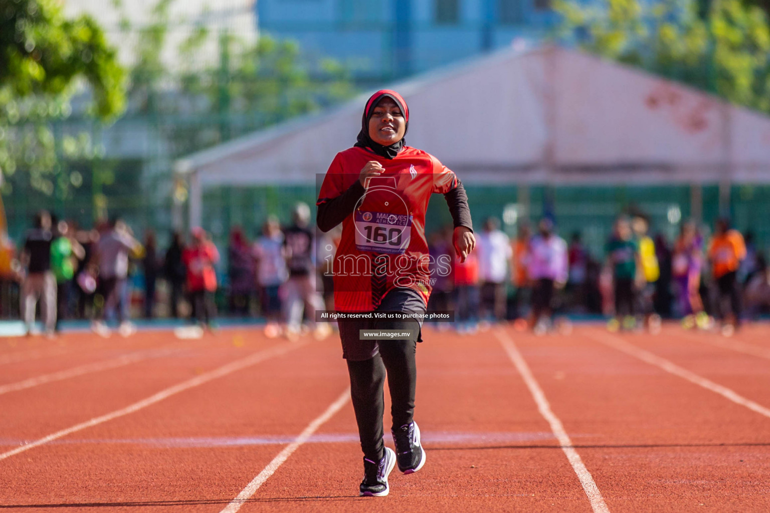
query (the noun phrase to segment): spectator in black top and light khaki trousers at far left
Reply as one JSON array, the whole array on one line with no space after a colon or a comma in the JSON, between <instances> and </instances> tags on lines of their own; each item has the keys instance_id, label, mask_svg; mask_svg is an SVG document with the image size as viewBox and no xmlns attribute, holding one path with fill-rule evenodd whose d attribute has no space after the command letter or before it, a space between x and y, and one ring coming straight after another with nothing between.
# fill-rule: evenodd
<instances>
[{"instance_id":1,"label":"spectator in black top and light khaki trousers at far left","mask_svg":"<svg viewBox=\"0 0 770 513\"><path fill-rule=\"evenodd\" d=\"M45 334L53 335L56 323L56 277L51 270L51 215L41 211L35 215L35 227L27 232L22 249L22 266L27 274L22 283L22 317L27 335L35 323L35 307L41 302Z\"/></svg>"}]
</instances>

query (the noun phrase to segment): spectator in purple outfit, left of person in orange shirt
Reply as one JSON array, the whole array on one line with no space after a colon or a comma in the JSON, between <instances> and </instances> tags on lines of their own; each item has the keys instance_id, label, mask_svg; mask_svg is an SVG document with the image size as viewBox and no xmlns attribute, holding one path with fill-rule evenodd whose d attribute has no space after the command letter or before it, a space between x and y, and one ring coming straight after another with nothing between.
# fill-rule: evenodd
<instances>
[{"instance_id":1,"label":"spectator in purple outfit, left of person in orange shirt","mask_svg":"<svg viewBox=\"0 0 770 513\"><path fill-rule=\"evenodd\" d=\"M681 225L679 237L671 258L671 275L674 278L678 315L685 317L685 326L695 326L697 315L703 312L701 300L701 267L703 250L700 235L694 222Z\"/></svg>"}]
</instances>

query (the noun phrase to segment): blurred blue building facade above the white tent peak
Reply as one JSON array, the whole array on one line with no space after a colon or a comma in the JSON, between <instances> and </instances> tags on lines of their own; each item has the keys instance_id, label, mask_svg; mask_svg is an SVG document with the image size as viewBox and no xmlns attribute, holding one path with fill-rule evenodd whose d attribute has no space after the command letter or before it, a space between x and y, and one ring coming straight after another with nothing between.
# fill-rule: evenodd
<instances>
[{"instance_id":1,"label":"blurred blue building facade above the white tent peak","mask_svg":"<svg viewBox=\"0 0 770 513\"><path fill-rule=\"evenodd\" d=\"M259 0L256 12L260 32L371 83L540 38L555 20L550 0Z\"/></svg>"}]
</instances>

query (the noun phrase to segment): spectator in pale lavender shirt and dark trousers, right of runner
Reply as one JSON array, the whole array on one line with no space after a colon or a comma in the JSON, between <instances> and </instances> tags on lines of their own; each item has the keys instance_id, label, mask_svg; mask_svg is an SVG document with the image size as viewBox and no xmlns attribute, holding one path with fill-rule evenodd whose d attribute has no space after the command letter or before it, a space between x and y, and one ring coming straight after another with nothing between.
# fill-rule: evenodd
<instances>
[{"instance_id":1,"label":"spectator in pale lavender shirt and dark trousers, right of runner","mask_svg":"<svg viewBox=\"0 0 770 513\"><path fill-rule=\"evenodd\" d=\"M554 234L554 223L543 218L537 235L530 242L529 277L532 281L532 316L530 326L536 334L545 332L542 316L550 318L554 288L567 283L567 242Z\"/></svg>"}]
</instances>

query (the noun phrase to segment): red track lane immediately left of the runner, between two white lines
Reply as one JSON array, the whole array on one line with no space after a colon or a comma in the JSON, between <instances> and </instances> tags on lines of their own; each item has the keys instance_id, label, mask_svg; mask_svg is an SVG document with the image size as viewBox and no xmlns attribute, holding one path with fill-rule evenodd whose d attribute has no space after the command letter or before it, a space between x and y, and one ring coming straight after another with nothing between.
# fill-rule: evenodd
<instances>
[{"instance_id":1,"label":"red track lane immediately left of the runner, between two white lines","mask_svg":"<svg viewBox=\"0 0 770 513\"><path fill-rule=\"evenodd\" d=\"M0 504L219 511L345 388L346 376L330 371L338 358L336 347L313 341L36 448L23 455L31 461L0 461L15 476L0 487Z\"/></svg>"}]
</instances>

